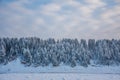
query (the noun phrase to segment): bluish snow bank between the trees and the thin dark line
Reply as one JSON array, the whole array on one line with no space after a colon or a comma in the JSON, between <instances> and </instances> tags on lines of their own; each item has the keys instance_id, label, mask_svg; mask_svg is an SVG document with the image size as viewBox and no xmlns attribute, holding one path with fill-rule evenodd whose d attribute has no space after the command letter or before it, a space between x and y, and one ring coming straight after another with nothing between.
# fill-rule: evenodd
<instances>
[{"instance_id":1,"label":"bluish snow bank between the trees and the thin dark line","mask_svg":"<svg viewBox=\"0 0 120 80\"><path fill-rule=\"evenodd\" d=\"M82 73L82 74L120 74L120 66L70 66L60 65L58 67L39 66L25 67L19 59L9 62L7 65L0 65L0 73Z\"/></svg>"}]
</instances>

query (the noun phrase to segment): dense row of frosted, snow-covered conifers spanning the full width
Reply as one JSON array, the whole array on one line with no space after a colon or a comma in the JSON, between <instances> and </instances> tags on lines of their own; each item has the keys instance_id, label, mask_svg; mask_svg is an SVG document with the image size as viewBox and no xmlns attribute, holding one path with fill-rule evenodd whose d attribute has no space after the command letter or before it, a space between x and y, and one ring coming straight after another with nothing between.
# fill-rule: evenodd
<instances>
[{"instance_id":1,"label":"dense row of frosted, snow-covered conifers spanning the full width","mask_svg":"<svg viewBox=\"0 0 120 80\"><path fill-rule=\"evenodd\" d=\"M116 39L62 39L0 38L0 65L20 59L25 66L87 67L120 65L120 40Z\"/></svg>"}]
</instances>

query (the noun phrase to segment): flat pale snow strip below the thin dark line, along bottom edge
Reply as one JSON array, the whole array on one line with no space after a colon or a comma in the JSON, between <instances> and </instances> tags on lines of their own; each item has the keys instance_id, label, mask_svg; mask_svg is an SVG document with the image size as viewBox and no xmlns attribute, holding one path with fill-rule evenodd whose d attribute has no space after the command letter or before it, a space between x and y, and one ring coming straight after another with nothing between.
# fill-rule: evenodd
<instances>
[{"instance_id":1,"label":"flat pale snow strip below the thin dark line, along bottom edge","mask_svg":"<svg viewBox=\"0 0 120 80\"><path fill-rule=\"evenodd\" d=\"M119 74L39 73L0 74L0 80L120 80Z\"/></svg>"}]
</instances>

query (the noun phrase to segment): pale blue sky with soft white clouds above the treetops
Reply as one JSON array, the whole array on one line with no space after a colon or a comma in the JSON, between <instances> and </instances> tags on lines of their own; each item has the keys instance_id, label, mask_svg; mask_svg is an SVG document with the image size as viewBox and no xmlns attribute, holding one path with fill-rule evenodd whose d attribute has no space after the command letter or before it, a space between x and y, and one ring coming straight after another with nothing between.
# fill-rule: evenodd
<instances>
[{"instance_id":1,"label":"pale blue sky with soft white clouds above the treetops","mask_svg":"<svg viewBox=\"0 0 120 80\"><path fill-rule=\"evenodd\" d=\"M0 37L120 39L120 0L0 0Z\"/></svg>"}]
</instances>

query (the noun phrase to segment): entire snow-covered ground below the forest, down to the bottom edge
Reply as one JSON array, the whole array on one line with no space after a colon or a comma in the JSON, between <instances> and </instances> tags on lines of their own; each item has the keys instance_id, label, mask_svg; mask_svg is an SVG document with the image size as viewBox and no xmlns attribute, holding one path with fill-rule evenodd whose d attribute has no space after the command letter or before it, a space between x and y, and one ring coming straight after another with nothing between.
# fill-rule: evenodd
<instances>
[{"instance_id":1,"label":"entire snow-covered ground below the forest, down to the bottom edge","mask_svg":"<svg viewBox=\"0 0 120 80\"><path fill-rule=\"evenodd\" d=\"M25 67L19 59L0 65L0 80L120 80L120 66Z\"/></svg>"}]
</instances>

